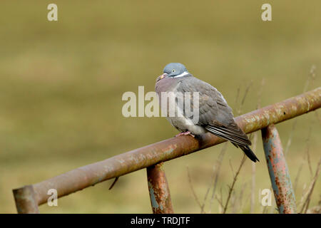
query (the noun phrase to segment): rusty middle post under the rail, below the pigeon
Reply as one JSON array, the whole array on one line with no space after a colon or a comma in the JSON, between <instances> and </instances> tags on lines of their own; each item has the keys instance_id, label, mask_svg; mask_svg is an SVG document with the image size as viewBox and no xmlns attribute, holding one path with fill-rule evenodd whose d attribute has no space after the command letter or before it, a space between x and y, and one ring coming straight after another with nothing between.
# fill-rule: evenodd
<instances>
[{"instance_id":1,"label":"rusty middle post under the rail, below the pigeon","mask_svg":"<svg viewBox=\"0 0 321 228\"><path fill-rule=\"evenodd\" d=\"M163 162L146 168L148 192L154 214L173 214L170 190L166 180Z\"/></svg>"}]
</instances>

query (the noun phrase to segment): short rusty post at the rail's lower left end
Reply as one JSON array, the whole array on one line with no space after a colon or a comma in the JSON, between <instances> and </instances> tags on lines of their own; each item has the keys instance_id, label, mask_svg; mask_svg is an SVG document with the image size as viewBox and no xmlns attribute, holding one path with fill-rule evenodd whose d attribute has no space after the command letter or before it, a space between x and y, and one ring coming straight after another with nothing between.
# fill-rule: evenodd
<instances>
[{"instance_id":1,"label":"short rusty post at the rail's lower left end","mask_svg":"<svg viewBox=\"0 0 321 228\"><path fill-rule=\"evenodd\" d=\"M16 210L19 214L39 214L38 203L32 185L13 190Z\"/></svg>"}]
</instances>

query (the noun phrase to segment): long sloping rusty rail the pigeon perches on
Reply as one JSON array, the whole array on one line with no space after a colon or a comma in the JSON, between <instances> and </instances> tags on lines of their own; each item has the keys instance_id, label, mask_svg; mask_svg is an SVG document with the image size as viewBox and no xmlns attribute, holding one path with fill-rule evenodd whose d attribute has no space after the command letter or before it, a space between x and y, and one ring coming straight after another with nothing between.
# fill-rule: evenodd
<instances>
[{"instance_id":1,"label":"long sloping rusty rail the pigeon perches on","mask_svg":"<svg viewBox=\"0 0 321 228\"><path fill-rule=\"evenodd\" d=\"M321 87L280 103L254 110L251 113L235 118L235 120L245 133L252 133L272 123L280 123L297 115L320 108L320 96ZM221 138L215 137L215 135L207 133L199 139L182 136L156 142L152 145L125 152L101 162L79 167L49 180L39 182L34 185L36 199L38 204L43 204L49 197L46 194L49 189L56 189L58 197L63 197L72 192L82 190L85 187L96 185L98 182L126 175L129 172L141 170L158 162L188 155L224 141Z\"/></svg>"}]
</instances>

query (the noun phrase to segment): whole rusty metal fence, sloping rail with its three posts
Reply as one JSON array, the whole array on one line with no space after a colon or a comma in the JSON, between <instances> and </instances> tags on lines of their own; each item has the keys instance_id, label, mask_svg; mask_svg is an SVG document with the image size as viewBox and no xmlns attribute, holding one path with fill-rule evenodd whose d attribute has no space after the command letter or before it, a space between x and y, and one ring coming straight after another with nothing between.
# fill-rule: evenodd
<instances>
[{"instance_id":1,"label":"whole rusty metal fence, sloping rail with its three posts","mask_svg":"<svg viewBox=\"0 0 321 228\"><path fill-rule=\"evenodd\" d=\"M296 213L295 195L275 124L321 107L321 87L280 103L235 118L245 133L262 130L263 147L275 201L280 213ZM39 213L47 202L47 192L56 189L58 197L69 195L104 180L118 178L146 168L153 213L173 213L170 190L162 162L188 155L225 142L210 133L200 138L177 137L125 152L101 162L79 167L49 180L13 190L18 213Z\"/></svg>"}]
</instances>

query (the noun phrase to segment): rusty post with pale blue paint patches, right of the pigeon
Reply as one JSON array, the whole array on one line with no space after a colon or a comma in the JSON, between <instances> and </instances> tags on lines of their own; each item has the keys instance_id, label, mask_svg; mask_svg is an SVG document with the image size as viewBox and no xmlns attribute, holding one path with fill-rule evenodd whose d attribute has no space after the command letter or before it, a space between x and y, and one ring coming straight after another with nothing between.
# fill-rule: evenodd
<instances>
[{"instance_id":1,"label":"rusty post with pale blue paint patches, right of the pigeon","mask_svg":"<svg viewBox=\"0 0 321 228\"><path fill-rule=\"evenodd\" d=\"M287 162L275 125L268 125L267 128L262 129L262 139L277 208L280 214L296 213L290 172L287 169Z\"/></svg>"}]
</instances>

